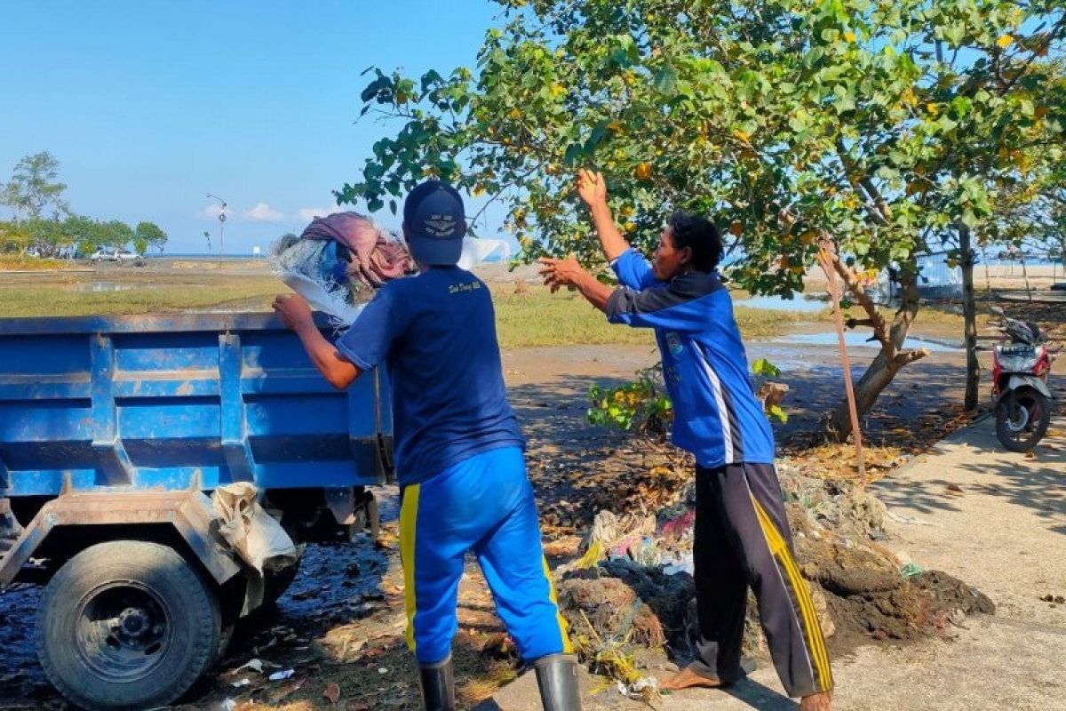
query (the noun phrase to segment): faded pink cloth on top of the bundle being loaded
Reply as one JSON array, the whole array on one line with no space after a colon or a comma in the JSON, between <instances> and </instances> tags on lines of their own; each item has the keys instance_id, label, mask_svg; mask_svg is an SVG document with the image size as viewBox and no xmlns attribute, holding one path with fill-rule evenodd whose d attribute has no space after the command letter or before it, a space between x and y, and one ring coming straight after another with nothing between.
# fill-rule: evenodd
<instances>
[{"instance_id":1,"label":"faded pink cloth on top of the bundle being loaded","mask_svg":"<svg viewBox=\"0 0 1066 711\"><path fill-rule=\"evenodd\" d=\"M389 239L385 230L358 212L335 212L316 217L300 237L304 240L334 240L348 247L352 255L349 275L374 289L407 274L415 266L410 253L402 242Z\"/></svg>"}]
</instances>

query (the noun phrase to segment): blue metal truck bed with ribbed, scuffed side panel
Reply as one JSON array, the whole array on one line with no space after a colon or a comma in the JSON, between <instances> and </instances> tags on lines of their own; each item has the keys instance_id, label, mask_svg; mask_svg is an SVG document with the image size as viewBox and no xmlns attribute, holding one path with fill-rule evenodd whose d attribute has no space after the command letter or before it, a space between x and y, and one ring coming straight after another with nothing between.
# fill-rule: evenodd
<instances>
[{"instance_id":1,"label":"blue metal truck bed with ribbed, scuffed side panel","mask_svg":"<svg viewBox=\"0 0 1066 711\"><path fill-rule=\"evenodd\" d=\"M0 319L0 497L376 484L388 403L381 370L330 387L272 313Z\"/></svg>"}]
</instances>

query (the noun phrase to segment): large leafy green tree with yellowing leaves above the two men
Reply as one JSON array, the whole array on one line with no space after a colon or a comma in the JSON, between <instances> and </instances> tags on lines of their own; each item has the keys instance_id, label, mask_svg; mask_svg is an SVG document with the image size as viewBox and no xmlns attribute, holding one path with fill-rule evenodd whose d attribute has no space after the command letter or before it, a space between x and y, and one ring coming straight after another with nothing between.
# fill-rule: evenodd
<instances>
[{"instance_id":1,"label":"large leafy green tree with yellowing leaves above the two men","mask_svg":"<svg viewBox=\"0 0 1066 711\"><path fill-rule=\"evenodd\" d=\"M478 71L373 69L362 92L399 129L337 193L371 211L424 176L506 204L522 256L600 262L570 189L610 183L644 247L669 212L727 227L730 276L791 295L825 240L881 351L856 386L867 411L918 313L918 257L985 232L999 178L1062 145L1041 86L1062 52L1061 2L1036 0L511 0ZM891 266L902 303L868 293ZM839 436L841 406L829 419Z\"/></svg>"}]
</instances>

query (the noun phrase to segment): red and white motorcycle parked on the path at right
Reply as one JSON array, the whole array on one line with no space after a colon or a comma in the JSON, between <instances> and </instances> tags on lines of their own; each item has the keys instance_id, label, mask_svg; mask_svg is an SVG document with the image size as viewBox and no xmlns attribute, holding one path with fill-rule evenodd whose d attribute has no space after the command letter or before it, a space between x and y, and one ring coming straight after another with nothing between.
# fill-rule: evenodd
<instances>
[{"instance_id":1,"label":"red and white motorcycle parked on the path at right","mask_svg":"<svg viewBox=\"0 0 1066 711\"><path fill-rule=\"evenodd\" d=\"M996 436L1012 452L1028 452L1048 432L1051 391L1048 373L1055 353L1048 333L1034 323L1012 319L1001 308L992 325L1003 343L992 348L992 398L996 400Z\"/></svg>"}]
</instances>

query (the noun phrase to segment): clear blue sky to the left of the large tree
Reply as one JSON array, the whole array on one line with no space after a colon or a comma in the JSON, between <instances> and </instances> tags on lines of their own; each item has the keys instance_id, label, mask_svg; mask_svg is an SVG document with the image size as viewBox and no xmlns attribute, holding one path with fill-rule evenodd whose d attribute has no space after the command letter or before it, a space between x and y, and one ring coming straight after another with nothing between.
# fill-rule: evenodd
<instances>
[{"instance_id":1,"label":"clear blue sky to the left of the large tree","mask_svg":"<svg viewBox=\"0 0 1066 711\"><path fill-rule=\"evenodd\" d=\"M211 192L229 204L226 254L265 249L336 209L330 191L358 179L387 132L353 125L359 74L473 68L499 12L487 0L5 3L0 182L47 150L79 214L156 222L168 253L206 252L209 230L217 251Z\"/></svg>"}]
</instances>

